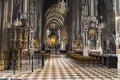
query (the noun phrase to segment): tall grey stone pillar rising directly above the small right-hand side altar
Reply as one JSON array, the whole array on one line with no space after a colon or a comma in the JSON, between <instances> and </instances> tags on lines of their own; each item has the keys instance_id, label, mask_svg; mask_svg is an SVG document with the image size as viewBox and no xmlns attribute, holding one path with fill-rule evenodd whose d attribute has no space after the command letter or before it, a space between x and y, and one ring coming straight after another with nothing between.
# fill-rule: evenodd
<instances>
[{"instance_id":1,"label":"tall grey stone pillar rising directly above the small right-hand side altar","mask_svg":"<svg viewBox=\"0 0 120 80\"><path fill-rule=\"evenodd\" d=\"M78 40L79 36L80 36L80 0L72 0L72 42L74 40Z\"/></svg>"}]
</instances>

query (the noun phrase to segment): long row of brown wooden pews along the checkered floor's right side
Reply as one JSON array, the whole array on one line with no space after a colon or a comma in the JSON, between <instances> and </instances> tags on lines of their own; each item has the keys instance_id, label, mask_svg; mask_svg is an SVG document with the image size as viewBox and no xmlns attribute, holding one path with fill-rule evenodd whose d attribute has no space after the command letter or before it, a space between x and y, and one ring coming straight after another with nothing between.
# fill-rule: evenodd
<instances>
[{"instance_id":1,"label":"long row of brown wooden pews along the checkered floor's right side","mask_svg":"<svg viewBox=\"0 0 120 80\"><path fill-rule=\"evenodd\" d=\"M117 55L116 54L100 54L99 51L91 51L89 56L83 56L82 50L69 52L67 56L75 62L83 64L100 64L108 68L117 68Z\"/></svg>"}]
</instances>

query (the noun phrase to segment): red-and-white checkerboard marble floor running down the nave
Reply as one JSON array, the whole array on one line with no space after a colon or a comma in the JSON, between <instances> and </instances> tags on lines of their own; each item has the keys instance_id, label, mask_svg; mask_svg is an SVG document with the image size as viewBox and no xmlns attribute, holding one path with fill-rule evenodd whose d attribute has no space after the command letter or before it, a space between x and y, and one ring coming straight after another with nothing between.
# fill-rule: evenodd
<instances>
[{"instance_id":1,"label":"red-and-white checkerboard marble floor running down the nave","mask_svg":"<svg viewBox=\"0 0 120 80\"><path fill-rule=\"evenodd\" d=\"M6 77L21 80L120 80L120 71L98 65L79 65L63 55L51 55L44 69Z\"/></svg>"}]
</instances>

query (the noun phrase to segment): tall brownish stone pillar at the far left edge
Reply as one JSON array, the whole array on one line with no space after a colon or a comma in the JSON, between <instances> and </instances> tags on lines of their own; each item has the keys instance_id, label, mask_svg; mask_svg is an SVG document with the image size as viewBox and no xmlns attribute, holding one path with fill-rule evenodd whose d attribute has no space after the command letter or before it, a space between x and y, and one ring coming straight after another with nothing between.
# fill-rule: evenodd
<instances>
[{"instance_id":1,"label":"tall brownish stone pillar at the far left edge","mask_svg":"<svg viewBox=\"0 0 120 80\"><path fill-rule=\"evenodd\" d=\"M7 51L8 51L8 46L7 46L7 21L8 21L8 1L6 0L3 0L3 4L4 4L4 7L3 7L3 22L2 22L2 44L1 44L1 64L3 65L2 68L5 68L6 67L6 58L7 58Z\"/></svg>"}]
</instances>

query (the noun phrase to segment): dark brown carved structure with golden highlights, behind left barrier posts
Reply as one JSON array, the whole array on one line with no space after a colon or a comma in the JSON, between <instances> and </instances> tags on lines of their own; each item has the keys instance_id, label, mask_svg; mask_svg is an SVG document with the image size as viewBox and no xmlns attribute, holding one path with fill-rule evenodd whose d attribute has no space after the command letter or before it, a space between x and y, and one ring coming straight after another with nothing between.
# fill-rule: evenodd
<instances>
[{"instance_id":1,"label":"dark brown carved structure with golden highlights, behind left barrier posts","mask_svg":"<svg viewBox=\"0 0 120 80\"><path fill-rule=\"evenodd\" d=\"M22 49L28 47L28 29L22 25L8 28L9 64L19 68L22 63Z\"/></svg>"}]
</instances>

